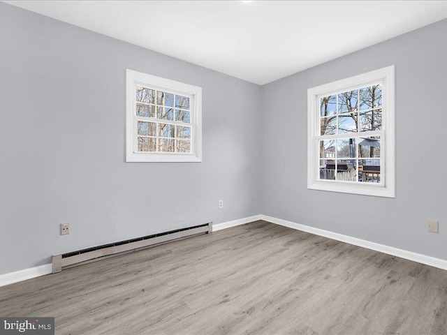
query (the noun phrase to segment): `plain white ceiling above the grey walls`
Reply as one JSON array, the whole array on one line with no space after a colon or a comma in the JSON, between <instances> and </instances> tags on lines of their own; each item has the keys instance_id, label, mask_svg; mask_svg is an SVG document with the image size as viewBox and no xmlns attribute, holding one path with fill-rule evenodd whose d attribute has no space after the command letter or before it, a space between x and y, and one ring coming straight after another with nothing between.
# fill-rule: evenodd
<instances>
[{"instance_id":1,"label":"plain white ceiling above the grey walls","mask_svg":"<svg viewBox=\"0 0 447 335\"><path fill-rule=\"evenodd\" d=\"M447 17L447 1L4 2L256 84Z\"/></svg>"}]
</instances>

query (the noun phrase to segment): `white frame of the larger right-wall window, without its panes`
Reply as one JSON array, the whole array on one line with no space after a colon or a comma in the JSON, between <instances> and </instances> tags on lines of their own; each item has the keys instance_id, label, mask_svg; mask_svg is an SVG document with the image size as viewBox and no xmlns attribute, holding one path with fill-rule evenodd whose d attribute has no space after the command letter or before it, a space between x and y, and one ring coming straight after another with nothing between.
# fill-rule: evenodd
<instances>
[{"instance_id":1,"label":"white frame of the larger right-wall window, without its panes","mask_svg":"<svg viewBox=\"0 0 447 335\"><path fill-rule=\"evenodd\" d=\"M382 85L381 183L319 179L320 104L323 96ZM339 137L347 137L340 134ZM358 133L353 133L353 136ZM356 144L358 145L358 144ZM383 173L384 172L384 173ZM307 90L307 188L395 198L395 66L337 80Z\"/></svg>"}]
</instances>

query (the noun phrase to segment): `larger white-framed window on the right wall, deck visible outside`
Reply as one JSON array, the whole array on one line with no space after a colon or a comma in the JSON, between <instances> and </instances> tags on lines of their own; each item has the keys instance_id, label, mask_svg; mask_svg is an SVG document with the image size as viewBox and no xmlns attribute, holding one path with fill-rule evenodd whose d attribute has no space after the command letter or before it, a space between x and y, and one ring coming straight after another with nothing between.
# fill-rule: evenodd
<instances>
[{"instance_id":1,"label":"larger white-framed window on the right wall, deck visible outside","mask_svg":"<svg viewBox=\"0 0 447 335\"><path fill-rule=\"evenodd\" d=\"M310 189L395 197L394 66L307 91Z\"/></svg>"}]
</instances>

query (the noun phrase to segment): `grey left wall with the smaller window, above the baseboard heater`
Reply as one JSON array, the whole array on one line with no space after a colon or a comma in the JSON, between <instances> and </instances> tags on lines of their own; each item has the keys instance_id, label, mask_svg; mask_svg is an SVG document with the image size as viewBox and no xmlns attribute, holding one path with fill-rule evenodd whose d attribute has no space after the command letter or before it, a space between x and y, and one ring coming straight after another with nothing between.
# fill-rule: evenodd
<instances>
[{"instance_id":1,"label":"grey left wall with the smaller window, above the baseboard heater","mask_svg":"<svg viewBox=\"0 0 447 335\"><path fill-rule=\"evenodd\" d=\"M203 163L124 162L126 68L203 88ZM0 3L0 274L260 214L260 114L256 84Z\"/></svg>"}]
</instances>

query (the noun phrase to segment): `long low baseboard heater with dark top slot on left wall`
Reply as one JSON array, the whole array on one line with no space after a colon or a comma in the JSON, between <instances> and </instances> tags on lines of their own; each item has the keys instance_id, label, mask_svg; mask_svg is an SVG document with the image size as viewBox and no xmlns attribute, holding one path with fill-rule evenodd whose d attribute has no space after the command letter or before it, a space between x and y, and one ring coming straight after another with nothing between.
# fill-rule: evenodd
<instances>
[{"instance_id":1,"label":"long low baseboard heater with dark top slot on left wall","mask_svg":"<svg viewBox=\"0 0 447 335\"><path fill-rule=\"evenodd\" d=\"M191 237L198 234L210 234L211 232L212 222L205 223L204 225L196 225L194 227L138 237L137 239L127 239L126 241L105 244L103 246L95 246L80 251L64 253L63 255L54 255L52 258L52 273L55 274L62 271L62 269L76 267L89 262L96 262L96 260L103 260L104 258L121 255L123 253L130 253L149 246L163 244L168 241L184 239L185 237Z\"/></svg>"}]
</instances>

